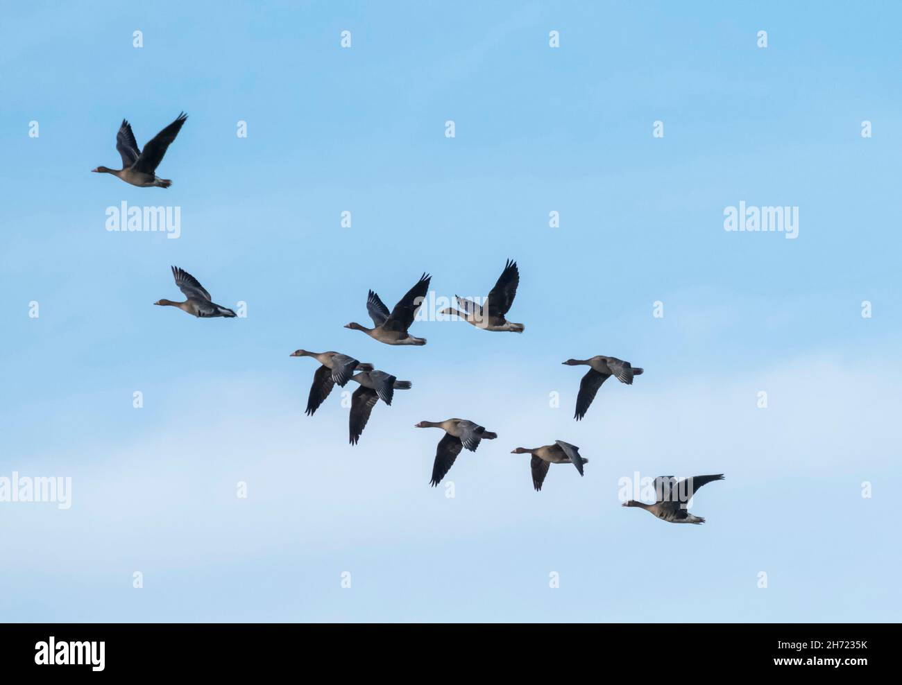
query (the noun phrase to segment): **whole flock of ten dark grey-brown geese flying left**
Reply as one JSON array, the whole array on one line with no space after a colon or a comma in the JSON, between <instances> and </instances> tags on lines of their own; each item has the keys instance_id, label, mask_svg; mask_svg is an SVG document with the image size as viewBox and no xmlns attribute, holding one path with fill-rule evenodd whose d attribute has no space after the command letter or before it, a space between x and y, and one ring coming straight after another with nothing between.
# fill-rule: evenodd
<instances>
[{"instance_id":1,"label":"whole flock of ten dark grey-brown geese flying left","mask_svg":"<svg viewBox=\"0 0 902 685\"><path fill-rule=\"evenodd\" d=\"M143 151L135 142L131 124L123 120L119 132L116 133L115 144L116 150L122 157L123 168L108 169L101 166L92 170L113 174L133 186L170 187L172 181L168 178L159 178L156 175L156 169L187 118L186 114L179 114L174 122L157 133L144 146ZM234 311L213 302L207 289L201 286L198 279L191 276L188 271L179 267L171 267L171 269L176 287L185 296L185 301L173 302L169 299L160 299L154 303L155 305L175 306L186 314L198 318L235 317ZM427 296L430 279L431 277L427 273L423 273L391 311L385 306L382 299L373 290L370 290L366 297L366 311L373 320L373 327L368 328L352 322L346 324L345 328L362 331L373 340L387 345L425 345L426 338L411 335L410 326ZM520 269L517 267L517 262L507 260L502 275L489 292L488 297L485 298L483 305L477 304L472 299L455 296L457 306L460 308L449 307L443 309L441 314L457 316L484 331L523 333L525 330L523 324L516 324L507 319L519 284ZM352 445L360 441L364 428L370 420L370 415L373 413L373 407L379 403L379 400L382 400L387 406L391 406L395 390L411 388L409 380L398 380L386 371L377 370L371 363L358 361L341 352L296 350L290 356L312 357L319 364L313 374L313 383L308 395L306 409L308 416L316 413L336 385L344 388L348 381L357 383L358 388L354 390L351 397L351 411L348 418L348 432ZM586 360L569 359L563 363L567 366L589 367L580 381L579 393L576 397L574 418L577 421L584 418L598 389L602 387L605 380L613 376L621 383L632 385L633 379L643 372L642 369L633 367L629 361L600 354ZM433 487L445 478L462 450L475 452L483 440L494 440L498 437L498 434L486 430L483 425L461 418L449 418L445 421L420 421L415 427L440 428L444 431L444 435L438 441L436 457L432 466L432 478L429 480L429 484ZM579 475L582 476L584 464L589 461L580 455L578 447L565 443L563 440L556 440L554 444L541 447L518 447L511 453L531 455L532 484L537 491L542 489L551 464L573 464ZM669 523L702 524L704 518L689 514L686 511L686 503L692 498L695 490L713 480L722 479L723 474L695 476L682 480L676 480L673 476L660 476L654 481L656 491L654 504L629 500L623 503L623 507L643 508Z\"/></svg>"}]
</instances>

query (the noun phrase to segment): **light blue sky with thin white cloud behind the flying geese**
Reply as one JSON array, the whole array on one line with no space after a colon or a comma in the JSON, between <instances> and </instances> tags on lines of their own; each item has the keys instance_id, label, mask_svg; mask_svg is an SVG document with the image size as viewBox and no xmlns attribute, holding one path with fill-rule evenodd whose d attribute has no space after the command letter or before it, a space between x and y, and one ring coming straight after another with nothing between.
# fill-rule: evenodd
<instances>
[{"instance_id":1,"label":"light blue sky with thin white cloud behind the flying geese","mask_svg":"<svg viewBox=\"0 0 902 685\"><path fill-rule=\"evenodd\" d=\"M897 620L899 9L294 5L5 7L0 477L73 492L0 503L0 616ZM172 187L89 173L124 117L143 145L181 110ZM797 239L725 232L741 200L799 207ZM179 206L181 236L107 232L123 201ZM368 288L484 295L506 258L522 335L342 328ZM152 306L170 264L247 317ZM303 416L299 347L413 388L351 447L338 392ZM594 354L646 373L577 424L560 362ZM449 416L500 436L455 498L412 427ZM509 452L556 439L585 477L536 493ZM620 507L635 471L727 479L667 525Z\"/></svg>"}]
</instances>

